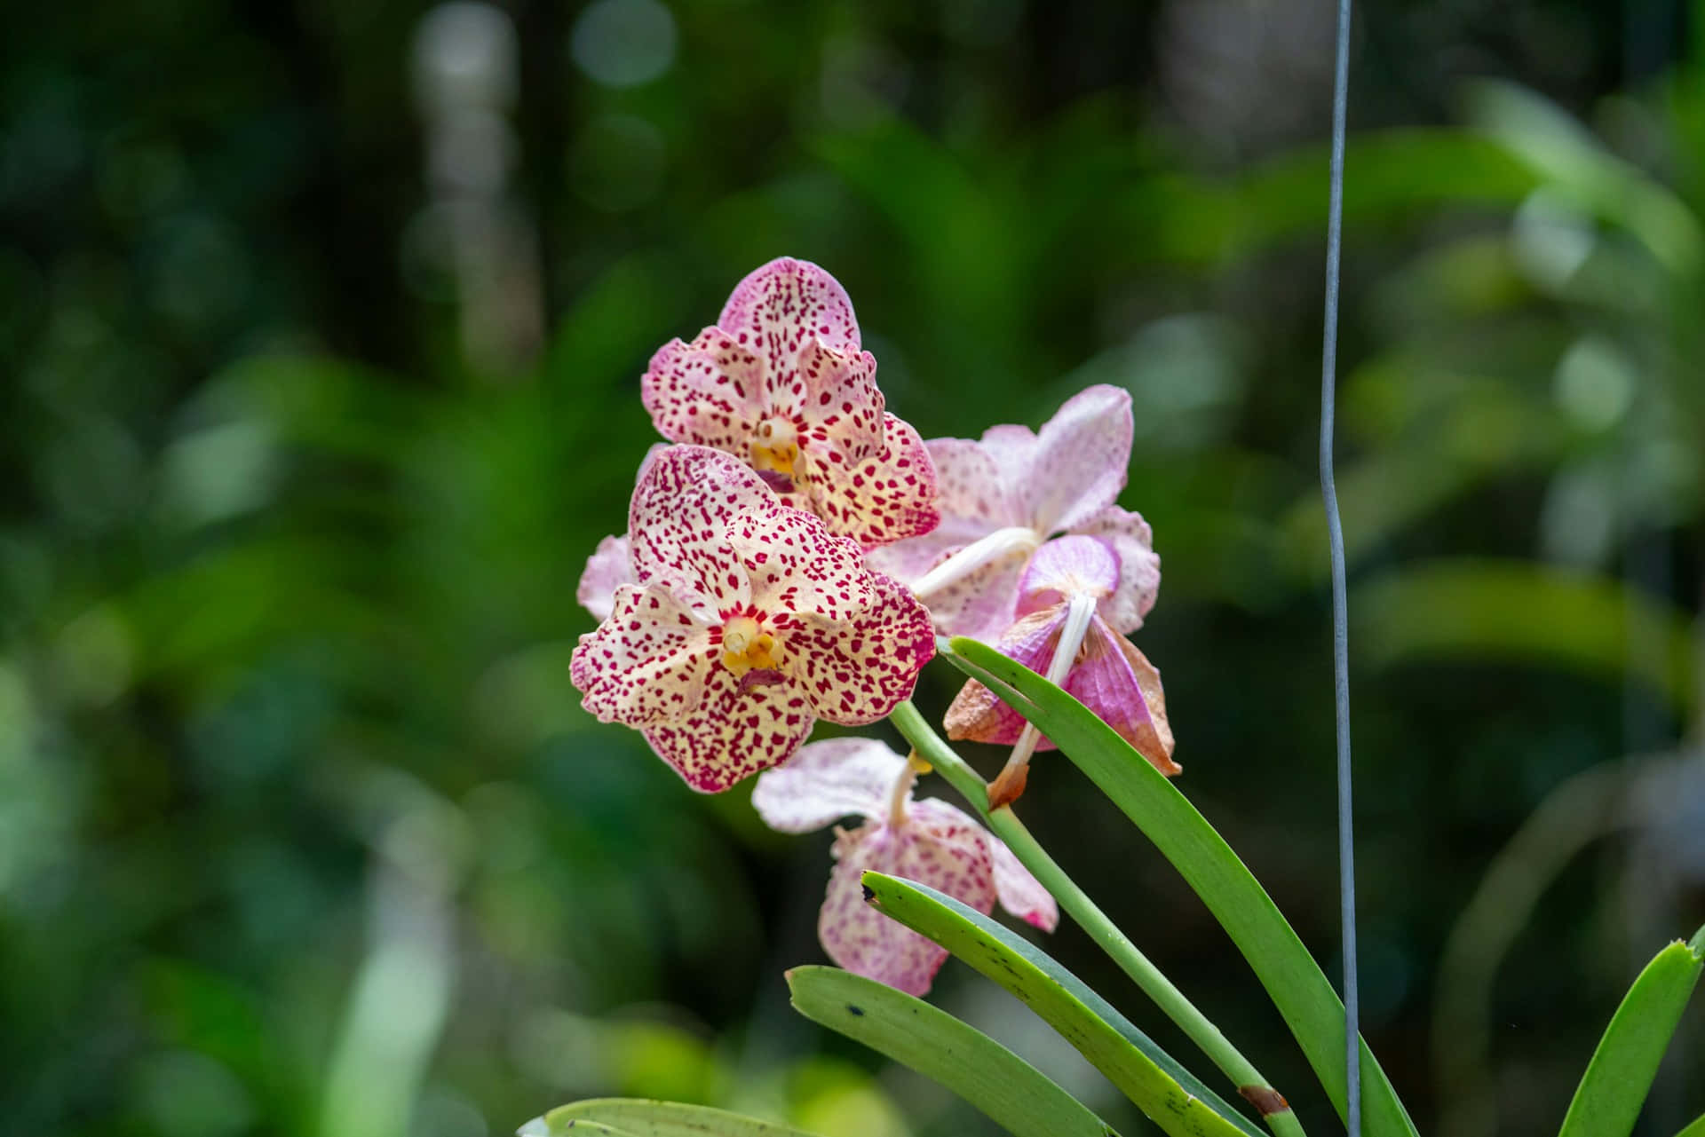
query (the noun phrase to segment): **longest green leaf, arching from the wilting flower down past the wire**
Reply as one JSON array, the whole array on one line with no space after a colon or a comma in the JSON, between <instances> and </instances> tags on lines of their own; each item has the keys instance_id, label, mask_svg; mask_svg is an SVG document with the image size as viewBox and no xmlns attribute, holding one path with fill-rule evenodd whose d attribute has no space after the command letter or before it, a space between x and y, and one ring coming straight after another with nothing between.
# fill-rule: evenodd
<instances>
[{"instance_id":1,"label":"longest green leaf, arching from the wilting flower down past the wire","mask_svg":"<svg viewBox=\"0 0 1705 1137\"><path fill-rule=\"evenodd\" d=\"M1035 723L1171 861L1243 951L1344 1117L1344 1004L1224 837L1130 743L1054 684L974 639L953 639L946 658ZM1362 1130L1413 1137L1415 1125L1367 1043L1361 1053Z\"/></svg>"}]
</instances>

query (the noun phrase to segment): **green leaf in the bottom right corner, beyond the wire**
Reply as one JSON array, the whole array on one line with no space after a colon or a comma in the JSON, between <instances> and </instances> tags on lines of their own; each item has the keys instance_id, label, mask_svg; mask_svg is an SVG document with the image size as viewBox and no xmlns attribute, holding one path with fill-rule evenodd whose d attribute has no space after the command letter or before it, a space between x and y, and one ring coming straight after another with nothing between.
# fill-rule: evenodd
<instances>
[{"instance_id":1,"label":"green leaf in the bottom right corner, beyond the wire","mask_svg":"<svg viewBox=\"0 0 1705 1137\"><path fill-rule=\"evenodd\" d=\"M1669 1048L1681 1011L1700 982L1705 927L1691 944L1679 939L1645 965L1599 1040L1558 1137L1623 1137L1633 1132L1657 1064Z\"/></svg>"}]
</instances>

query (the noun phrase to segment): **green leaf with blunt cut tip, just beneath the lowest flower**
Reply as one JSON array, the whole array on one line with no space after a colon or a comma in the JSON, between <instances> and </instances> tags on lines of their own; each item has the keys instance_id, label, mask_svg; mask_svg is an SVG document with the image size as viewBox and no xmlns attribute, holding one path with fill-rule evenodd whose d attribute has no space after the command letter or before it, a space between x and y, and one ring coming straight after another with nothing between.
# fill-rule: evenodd
<instances>
[{"instance_id":1,"label":"green leaf with blunt cut tip, just beneath the lowest flower","mask_svg":"<svg viewBox=\"0 0 1705 1137\"><path fill-rule=\"evenodd\" d=\"M982 1110L1014 1137L1117 1137L1042 1071L946 1011L837 967L788 972L793 1006Z\"/></svg>"}]
</instances>

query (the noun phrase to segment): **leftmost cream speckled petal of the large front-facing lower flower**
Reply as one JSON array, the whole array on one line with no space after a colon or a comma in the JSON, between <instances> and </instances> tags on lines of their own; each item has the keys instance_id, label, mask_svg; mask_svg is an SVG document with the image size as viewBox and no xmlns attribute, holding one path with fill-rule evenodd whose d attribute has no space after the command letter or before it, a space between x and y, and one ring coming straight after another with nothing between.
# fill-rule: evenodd
<instances>
[{"instance_id":1,"label":"leftmost cream speckled petal of the large front-facing lower flower","mask_svg":"<svg viewBox=\"0 0 1705 1137\"><path fill-rule=\"evenodd\" d=\"M587 709L600 723L627 726L697 709L716 655L704 617L662 581L622 585L612 609L569 661Z\"/></svg>"}]
</instances>

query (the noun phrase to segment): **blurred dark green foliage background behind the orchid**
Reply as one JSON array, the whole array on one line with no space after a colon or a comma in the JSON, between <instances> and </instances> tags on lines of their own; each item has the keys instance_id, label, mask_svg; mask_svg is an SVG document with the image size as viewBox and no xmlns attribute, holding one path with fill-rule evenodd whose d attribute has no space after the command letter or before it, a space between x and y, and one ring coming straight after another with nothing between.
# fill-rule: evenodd
<instances>
[{"instance_id":1,"label":"blurred dark green foliage background behind the orchid","mask_svg":"<svg viewBox=\"0 0 1705 1137\"><path fill-rule=\"evenodd\" d=\"M926 436L1130 389L1180 786L1335 973L1330 19L14 5L0 1128L483 1137L629 1093L992 1132L789 1011L829 835L689 793L568 684L580 568L653 442L638 377L779 254L846 283ZM1357 19L1364 1023L1424 1132L1545 1134L1705 919L1705 5ZM951 694L926 672L926 709ZM1113 810L1043 762L1025 815L1333 1132ZM1049 948L1205 1072L1076 929ZM936 1001L1151 1132L960 965ZM1695 1006L1642 1132L1702 1110Z\"/></svg>"}]
</instances>

